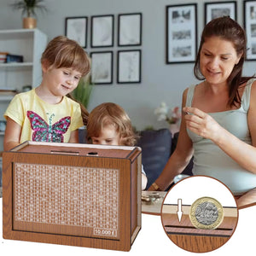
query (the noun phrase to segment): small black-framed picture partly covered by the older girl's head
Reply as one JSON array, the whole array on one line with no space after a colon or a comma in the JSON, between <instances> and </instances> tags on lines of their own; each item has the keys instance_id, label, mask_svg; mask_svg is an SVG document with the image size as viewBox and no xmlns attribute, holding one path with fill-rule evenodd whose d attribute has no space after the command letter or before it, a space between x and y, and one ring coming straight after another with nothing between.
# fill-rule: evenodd
<instances>
[{"instance_id":1,"label":"small black-framed picture partly covered by the older girl's head","mask_svg":"<svg viewBox=\"0 0 256 256\"><path fill-rule=\"evenodd\" d=\"M67 17L65 19L65 35L73 39L83 48L87 47L87 17Z\"/></svg>"}]
</instances>

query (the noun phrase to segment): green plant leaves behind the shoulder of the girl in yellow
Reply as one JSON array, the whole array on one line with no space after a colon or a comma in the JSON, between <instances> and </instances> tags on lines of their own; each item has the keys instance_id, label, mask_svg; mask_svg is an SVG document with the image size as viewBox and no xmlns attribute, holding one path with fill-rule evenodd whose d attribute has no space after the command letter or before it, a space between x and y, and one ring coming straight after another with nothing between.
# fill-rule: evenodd
<instances>
[{"instance_id":1,"label":"green plant leaves behind the shoulder of the girl in yellow","mask_svg":"<svg viewBox=\"0 0 256 256\"><path fill-rule=\"evenodd\" d=\"M73 90L72 96L80 102L84 108L87 108L90 102L90 95L93 89L93 84L90 84L90 79L80 79L78 87Z\"/></svg>"}]
</instances>

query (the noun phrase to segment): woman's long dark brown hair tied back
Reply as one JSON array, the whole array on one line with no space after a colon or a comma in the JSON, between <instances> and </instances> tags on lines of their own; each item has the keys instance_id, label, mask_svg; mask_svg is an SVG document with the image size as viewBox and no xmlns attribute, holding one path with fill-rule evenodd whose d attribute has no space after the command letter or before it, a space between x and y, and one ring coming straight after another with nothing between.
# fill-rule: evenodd
<instances>
[{"instance_id":1,"label":"woman's long dark brown hair tied back","mask_svg":"<svg viewBox=\"0 0 256 256\"><path fill-rule=\"evenodd\" d=\"M240 61L233 68L232 73L228 79L229 85L229 102L228 105L231 106L240 106L241 96L238 93L238 88L241 84L247 82L248 79L252 77L242 77L242 67L246 58L247 52L247 38L246 33L243 28L235 21L228 16L220 17L214 20L211 20L205 26L201 34L201 44L198 49L198 54L195 59L194 74L195 77L199 80L204 80L205 78L201 74L200 69L200 55L202 45L205 43L207 38L219 37L226 41L231 42L236 49L236 55L241 55Z\"/></svg>"}]
</instances>

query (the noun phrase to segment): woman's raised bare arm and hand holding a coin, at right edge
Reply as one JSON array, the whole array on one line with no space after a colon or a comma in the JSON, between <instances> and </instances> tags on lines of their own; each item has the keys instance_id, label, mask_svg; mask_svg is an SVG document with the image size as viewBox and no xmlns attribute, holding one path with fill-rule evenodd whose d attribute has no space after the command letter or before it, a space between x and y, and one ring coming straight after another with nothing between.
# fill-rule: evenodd
<instances>
[{"instance_id":1,"label":"woman's raised bare arm and hand holding a coin, at right edge","mask_svg":"<svg viewBox=\"0 0 256 256\"><path fill-rule=\"evenodd\" d=\"M256 82L252 84L250 108L247 122L252 137L252 145L242 142L239 138L218 125L210 115L198 108L183 108L183 111L193 113L186 114L188 128L200 135L211 139L226 154L235 160L241 167L249 172L256 173Z\"/></svg>"}]
</instances>

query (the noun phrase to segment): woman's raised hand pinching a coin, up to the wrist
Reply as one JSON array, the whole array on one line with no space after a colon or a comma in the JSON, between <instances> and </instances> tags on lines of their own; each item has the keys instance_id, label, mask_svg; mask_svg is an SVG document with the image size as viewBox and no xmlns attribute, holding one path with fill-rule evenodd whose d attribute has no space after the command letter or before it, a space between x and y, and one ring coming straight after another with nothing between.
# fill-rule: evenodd
<instances>
[{"instance_id":1,"label":"woman's raised hand pinching a coin, up to the wrist","mask_svg":"<svg viewBox=\"0 0 256 256\"><path fill-rule=\"evenodd\" d=\"M183 112L187 113L184 118L190 131L213 142L218 141L222 127L209 114L189 107L184 107Z\"/></svg>"}]
</instances>

